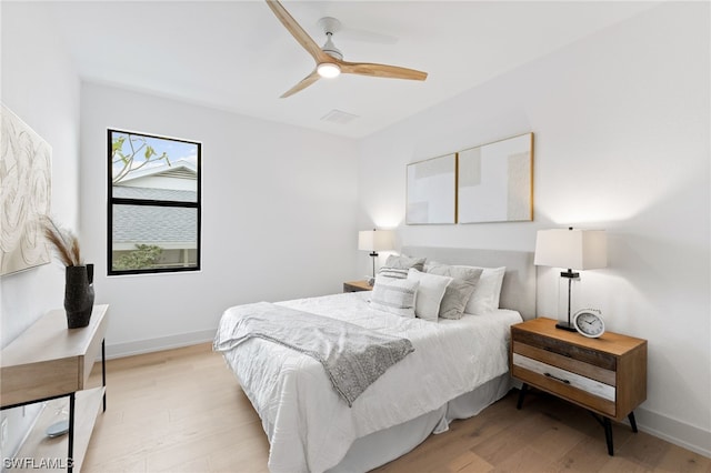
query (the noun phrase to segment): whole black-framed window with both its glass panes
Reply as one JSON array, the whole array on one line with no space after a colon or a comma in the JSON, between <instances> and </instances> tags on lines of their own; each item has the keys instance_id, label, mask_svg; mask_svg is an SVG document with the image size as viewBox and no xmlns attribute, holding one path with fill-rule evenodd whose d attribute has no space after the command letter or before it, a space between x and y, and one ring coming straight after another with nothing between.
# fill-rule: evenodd
<instances>
[{"instance_id":1,"label":"whole black-framed window with both its glass panes","mask_svg":"<svg viewBox=\"0 0 711 473\"><path fill-rule=\"evenodd\" d=\"M200 143L109 130L109 275L200 269Z\"/></svg>"}]
</instances>

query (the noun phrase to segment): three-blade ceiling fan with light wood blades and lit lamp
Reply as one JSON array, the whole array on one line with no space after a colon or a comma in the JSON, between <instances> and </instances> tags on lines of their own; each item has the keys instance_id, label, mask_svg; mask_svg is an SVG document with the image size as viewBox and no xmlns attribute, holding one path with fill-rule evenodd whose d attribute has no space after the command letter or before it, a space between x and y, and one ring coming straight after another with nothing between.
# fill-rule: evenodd
<instances>
[{"instance_id":1,"label":"three-blade ceiling fan with light wood blades and lit lamp","mask_svg":"<svg viewBox=\"0 0 711 473\"><path fill-rule=\"evenodd\" d=\"M281 95L282 99L306 89L320 78L334 78L341 73L409 80L427 79L427 72L414 69L369 62L343 61L343 54L341 54L341 51L336 48L331 40L333 33L340 27L340 22L337 19L327 17L319 21L327 37L326 44L323 44L323 48L320 48L278 0L267 0L267 4L291 36L294 37L299 44L301 44L316 61L316 69L303 78L301 82L286 91Z\"/></svg>"}]
</instances>

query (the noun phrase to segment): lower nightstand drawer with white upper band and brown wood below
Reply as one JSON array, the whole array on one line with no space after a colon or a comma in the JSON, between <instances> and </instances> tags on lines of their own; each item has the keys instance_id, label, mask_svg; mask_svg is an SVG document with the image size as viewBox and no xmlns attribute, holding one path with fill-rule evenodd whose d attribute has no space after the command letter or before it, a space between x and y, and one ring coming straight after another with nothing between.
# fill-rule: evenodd
<instances>
[{"instance_id":1,"label":"lower nightstand drawer with white upper band and brown wood below","mask_svg":"<svg viewBox=\"0 0 711 473\"><path fill-rule=\"evenodd\" d=\"M572 401L583 407L617 415L617 389L570 371L513 353L511 374L531 385Z\"/></svg>"}]
</instances>

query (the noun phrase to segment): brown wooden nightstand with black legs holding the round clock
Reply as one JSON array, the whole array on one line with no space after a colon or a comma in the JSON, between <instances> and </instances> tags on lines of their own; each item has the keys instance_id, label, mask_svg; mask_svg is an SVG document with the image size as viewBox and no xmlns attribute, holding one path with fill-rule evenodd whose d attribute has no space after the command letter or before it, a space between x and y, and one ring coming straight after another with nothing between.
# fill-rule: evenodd
<instances>
[{"instance_id":1,"label":"brown wooden nightstand with black legs holding the round clock","mask_svg":"<svg viewBox=\"0 0 711 473\"><path fill-rule=\"evenodd\" d=\"M555 329L555 322L511 326L511 375L523 382L517 406L530 385L587 409L604 427L612 455L610 420L628 417L637 432L633 411L647 399L647 341L611 332L588 339Z\"/></svg>"}]
</instances>

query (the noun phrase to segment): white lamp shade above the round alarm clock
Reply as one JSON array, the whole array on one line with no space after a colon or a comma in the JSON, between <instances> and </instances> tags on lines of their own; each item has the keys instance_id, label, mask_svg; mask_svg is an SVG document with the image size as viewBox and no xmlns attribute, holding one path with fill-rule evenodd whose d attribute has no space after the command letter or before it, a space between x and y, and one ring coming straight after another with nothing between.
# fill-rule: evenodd
<instances>
[{"instance_id":1,"label":"white lamp shade above the round alarm clock","mask_svg":"<svg viewBox=\"0 0 711 473\"><path fill-rule=\"evenodd\" d=\"M605 268L607 234L604 230L539 230L533 264L571 270Z\"/></svg>"}]
</instances>

